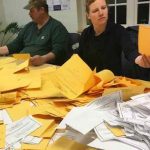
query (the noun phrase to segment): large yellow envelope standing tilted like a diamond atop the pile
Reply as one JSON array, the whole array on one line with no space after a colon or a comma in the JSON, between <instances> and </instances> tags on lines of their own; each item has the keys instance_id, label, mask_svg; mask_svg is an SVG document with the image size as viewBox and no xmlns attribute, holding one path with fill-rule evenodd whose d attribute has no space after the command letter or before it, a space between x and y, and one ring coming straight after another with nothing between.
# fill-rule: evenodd
<instances>
[{"instance_id":1,"label":"large yellow envelope standing tilted like a diamond atop the pile","mask_svg":"<svg viewBox=\"0 0 150 150\"><path fill-rule=\"evenodd\" d=\"M78 97L96 82L92 70L77 54L56 70L52 81L70 99Z\"/></svg>"}]
</instances>

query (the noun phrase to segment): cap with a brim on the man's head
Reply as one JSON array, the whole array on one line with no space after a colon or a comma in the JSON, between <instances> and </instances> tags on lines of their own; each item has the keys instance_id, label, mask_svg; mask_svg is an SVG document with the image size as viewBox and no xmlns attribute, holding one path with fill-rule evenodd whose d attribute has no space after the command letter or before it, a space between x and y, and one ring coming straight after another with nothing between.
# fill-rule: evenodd
<instances>
[{"instance_id":1,"label":"cap with a brim on the man's head","mask_svg":"<svg viewBox=\"0 0 150 150\"><path fill-rule=\"evenodd\" d=\"M24 7L24 9L30 10L31 8L40 8L47 5L46 0L29 0L29 3Z\"/></svg>"}]
</instances>

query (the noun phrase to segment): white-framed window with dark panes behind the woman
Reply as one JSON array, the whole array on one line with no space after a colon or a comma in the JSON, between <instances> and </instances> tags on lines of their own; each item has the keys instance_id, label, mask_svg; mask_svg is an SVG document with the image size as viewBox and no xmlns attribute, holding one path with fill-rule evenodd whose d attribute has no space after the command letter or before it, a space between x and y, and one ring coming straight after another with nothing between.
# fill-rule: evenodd
<instances>
[{"instance_id":1,"label":"white-framed window with dark panes behind the woman","mask_svg":"<svg viewBox=\"0 0 150 150\"><path fill-rule=\"evenodd\" d=\"M80 1L84 1L82 7L85 10L86 0ZM109 17L113 22L124 26L150 24L150 0L109 0ZM82 18L86 18L85 11ZM88 23L84 20L83 26L86 27Z\"/></svg>"}]
</instances>

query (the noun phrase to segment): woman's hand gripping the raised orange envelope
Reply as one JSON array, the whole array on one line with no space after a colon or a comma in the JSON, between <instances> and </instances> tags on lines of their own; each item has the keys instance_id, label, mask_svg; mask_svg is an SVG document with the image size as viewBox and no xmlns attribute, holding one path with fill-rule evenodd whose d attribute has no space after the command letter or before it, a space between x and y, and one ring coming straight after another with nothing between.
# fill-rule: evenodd
<instances>
[{"instance_id":1,"label":"woman's hand gripping the raised orange envelope","mask_svg":"<svg viewBox=\"0 0 150 150\"><path fill-rule=\"evenodd\" d=\"M150 68L150 56L140 55L135 59L135 63L143 68Z\"/></svg>"}]
</instances>

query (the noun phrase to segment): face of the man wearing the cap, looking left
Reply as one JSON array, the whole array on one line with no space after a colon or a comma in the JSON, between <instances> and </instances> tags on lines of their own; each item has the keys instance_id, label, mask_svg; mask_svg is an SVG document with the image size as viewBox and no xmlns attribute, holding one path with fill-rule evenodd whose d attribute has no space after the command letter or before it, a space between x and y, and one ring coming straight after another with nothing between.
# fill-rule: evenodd
<instances>
[{"instance_id":1,"label":"face of the man wearing the cap, looking left","mask_svg":"<svg viewBox=\"0 0 150 150\"><path fill-rule=\"evenodd\" d=\"M31 8L30 11L29 11L29 15L30 15L31 19L32 19L34 22L36 22L36 23L39 22L39 20L40 20L42 14L43 14L43 9L42 9L42 8L37 9L37 8L34 8L34 7L33 7L33 8Z\"/></svg>"}]
</instances>

